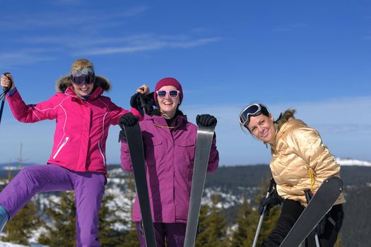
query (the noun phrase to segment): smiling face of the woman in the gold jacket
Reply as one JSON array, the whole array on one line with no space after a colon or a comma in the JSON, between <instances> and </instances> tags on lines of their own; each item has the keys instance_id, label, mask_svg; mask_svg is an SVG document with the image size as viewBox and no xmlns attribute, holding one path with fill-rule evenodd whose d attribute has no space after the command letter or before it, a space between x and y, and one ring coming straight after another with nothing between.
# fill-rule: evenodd
<instances>
[{"instance_id":1,"label":"smiling face of the woman in the gold jacket","mask_svg":"<svg viewBox=\"0 0 371 247\"><path fill-rule=\"evenodd\" d=\"M273 116L271 114L269 116L265 116L264 114L250 116L247 128L249 128L252 135L264 143L269 143L274 135L276 135L276 128L274 127Z\"/></svg>"}]
</instances>

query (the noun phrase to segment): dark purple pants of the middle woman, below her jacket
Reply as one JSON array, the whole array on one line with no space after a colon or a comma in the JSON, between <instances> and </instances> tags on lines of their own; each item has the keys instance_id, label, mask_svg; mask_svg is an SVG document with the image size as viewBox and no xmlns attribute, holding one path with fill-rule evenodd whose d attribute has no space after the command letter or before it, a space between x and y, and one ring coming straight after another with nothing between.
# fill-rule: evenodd
<instances>
[{"instance_id":1,"label":"dark purple pants of the middle woman, below her jacket","mask_svg":"<svg viewBox=\"0 0 371 247\"><path fill-rule=\"evenodd\" d=\"M168 247L183 247L185 230L187 224L185 223L158 223L153 222L155 230L155 239L157 247L165 247L165 236ZM136 222L136 235L138 236L141 247L146 247L146 241L141 233L141 222Z\"/></svg>"}]
</instances>

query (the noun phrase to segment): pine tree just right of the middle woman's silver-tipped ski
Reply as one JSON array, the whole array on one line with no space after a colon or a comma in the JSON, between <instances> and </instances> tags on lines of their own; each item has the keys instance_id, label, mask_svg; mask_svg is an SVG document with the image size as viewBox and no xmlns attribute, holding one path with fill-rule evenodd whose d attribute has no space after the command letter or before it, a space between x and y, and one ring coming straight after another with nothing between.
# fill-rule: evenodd
<instances>
[{"instance_id":1,"label":"pine tree just right of the middle woman's silver-tipped ski","mask_svg":"<svg viewBox=\"0 0 371 247\"><path fill-rule=\"evenodd\" d=\"M208 206L201 207L196 247L228 246L225 217L216 207L218 202L220 202L220 197L214 196L213 206L210 208L211 212L208 215L206 215Z\"/></svg>"}]
</instances>

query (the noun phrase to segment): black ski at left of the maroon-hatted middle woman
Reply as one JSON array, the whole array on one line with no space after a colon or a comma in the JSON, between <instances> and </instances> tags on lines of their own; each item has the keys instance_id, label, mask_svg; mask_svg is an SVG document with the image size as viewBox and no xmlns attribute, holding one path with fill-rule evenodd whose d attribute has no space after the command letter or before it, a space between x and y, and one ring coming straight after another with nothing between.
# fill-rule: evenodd
<instances>
[{"instance_id":1,"label":"black ski at left of the maroon-hatted middle woman","mask_svg":"<svg viewBox=\"0 0 371 247\"><path fill-rule=\"evenodd\" d=\"M153 221L151 215L151 205L148 195L148 185L146 177L146 161L143 152L143 140L139 123L134 126L124 126L126 140L129 145L131 164L138 193L139 206L143 223L144 239L147 247L155 247L155 231L153 230Z\"/></svg>"}]
</instances>

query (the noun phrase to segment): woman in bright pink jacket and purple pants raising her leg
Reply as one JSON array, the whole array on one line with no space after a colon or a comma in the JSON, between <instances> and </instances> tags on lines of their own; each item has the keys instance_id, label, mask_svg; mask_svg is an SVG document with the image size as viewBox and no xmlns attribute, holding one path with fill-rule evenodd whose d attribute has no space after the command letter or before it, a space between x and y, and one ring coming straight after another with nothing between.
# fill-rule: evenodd
<instances>
[{"instance_id":1,"label":"woman in bright pink jacket and purple pants raising her leg","mask_svg":"<svg viewBox=\"0 0 371 247\"><path fill-rule=\"evenodd\" d=\"M100 246L98 212L107 182L108 128L124 114L133 123L138 118L102 96L110 83L95 76L86 59L73 63L70 75L57 83L60 92L45 102L26 105L10 74L1 76L1 86L10 87L6 98L18 121L55 119L56 128L47 165L23 168L1 191L0 231L36 193L75 191L76 246Z\"/></svg>"}]
</instances>

